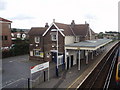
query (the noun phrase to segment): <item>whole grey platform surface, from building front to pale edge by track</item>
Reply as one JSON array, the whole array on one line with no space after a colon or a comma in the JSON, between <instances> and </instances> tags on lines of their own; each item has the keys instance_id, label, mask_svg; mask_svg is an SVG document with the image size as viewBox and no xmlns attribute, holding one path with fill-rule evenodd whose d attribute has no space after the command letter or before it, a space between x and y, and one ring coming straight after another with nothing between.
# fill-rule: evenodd
<instances>
[{"instance_id":1,"label":"whole grey platform surface, from building front to pale edge by track","mask_svg":"<svg viewBox=\"0 0 120 90\"><path fill-rule=\"evenodd\" d=\"M93 60L89 60L88 65L85 64L85 60L81 60L81 70L78 70L78 66L74 65L69 70L60 72L59 77L52 77L49 81L42 82L35 88L76 88L87 78L90 72L92 72L94 67L102 60L104 55L115 43L117 42L108 44L104 52L95 56ZM52 66L52 63L50 63L50 65ZM75 84L76 82L77 84Z\"/></svg>"}]
</instances>

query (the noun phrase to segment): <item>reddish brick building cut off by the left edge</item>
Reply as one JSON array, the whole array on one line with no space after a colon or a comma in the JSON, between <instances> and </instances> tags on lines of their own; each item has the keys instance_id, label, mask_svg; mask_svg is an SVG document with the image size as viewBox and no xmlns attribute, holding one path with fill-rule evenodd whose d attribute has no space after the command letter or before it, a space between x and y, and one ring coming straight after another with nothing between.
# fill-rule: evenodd
<instances>
[{"instance_id":1,"label":"reddish brick building cut off by the left edge","mask_svg":"<svg viewBox=\"0 0 120 90\"><path fill-rule=\"evenodd\" d=\"M2 50L9 49L9 47L12 45L11 23L12 21L0 17L0 28L2 29L2 33L0 33L0 44L2 46Z\"/></svg>"}]
</instances>

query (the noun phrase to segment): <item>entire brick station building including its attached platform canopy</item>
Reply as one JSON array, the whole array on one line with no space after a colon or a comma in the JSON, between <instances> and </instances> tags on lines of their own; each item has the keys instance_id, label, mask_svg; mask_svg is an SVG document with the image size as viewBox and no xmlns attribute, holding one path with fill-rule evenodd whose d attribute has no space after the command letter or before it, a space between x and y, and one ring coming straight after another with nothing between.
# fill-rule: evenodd
<instances>
[{"instance_id":1,"label":"entire brick station building including its attached platform canopy","mask_svg":"<svg viewBox=\"0 0 120 90\"><path fill-rule=\"evenodd\" d=\"M63 65L66 69L77 64L78 70L81 60L88 64L90 59L102 52L104 46L111 42L111 39L95 39L95 33L88 23L75 24L74 20L71 24L53 21L50 26L46 23L45 27L33 27L29 31L29 38L30 60L58 62L59 66Z\"/></svg>"}]
</instances>

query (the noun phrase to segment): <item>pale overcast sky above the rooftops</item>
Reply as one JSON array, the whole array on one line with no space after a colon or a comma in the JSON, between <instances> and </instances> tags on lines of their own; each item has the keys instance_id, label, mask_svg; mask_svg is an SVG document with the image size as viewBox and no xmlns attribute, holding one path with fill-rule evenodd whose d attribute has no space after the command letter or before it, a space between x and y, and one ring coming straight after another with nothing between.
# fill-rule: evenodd
<instances>
[{"instance_id":1,"label":"pale overcast sky above the rooftops","mask_svg":"<svg viewBox=\"0 0 120 90\"><path fill-rule=\"evenodd\" d=\"M30 29L56 22L84 24L96 33L118 31L119 0L0 0L0 17L12 28Z\"/></svg>"}]
</instances>

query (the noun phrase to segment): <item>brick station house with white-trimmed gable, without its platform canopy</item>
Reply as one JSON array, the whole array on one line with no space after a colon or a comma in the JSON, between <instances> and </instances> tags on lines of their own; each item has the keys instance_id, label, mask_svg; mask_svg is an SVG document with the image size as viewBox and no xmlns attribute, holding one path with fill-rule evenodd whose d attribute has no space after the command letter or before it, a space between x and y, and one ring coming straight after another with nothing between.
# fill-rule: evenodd
<instances>
[{"instance_id":1,"label":"brick station house with white-trimmed gable, without its platform canopy","mask_svg":"<svg viewBox=\"0 0 120 90\"><path fill-rule=\"evenodd\" d=\"M74 20L72 20L71 24L53 21L50 26L46 23L45 27L32 27L28 34L30 39L30 60L56 62L58 38L59 65L64 63L65 45L95 39L95 33L88 23L75 24Z\"/></svg>"}]
</instances>

